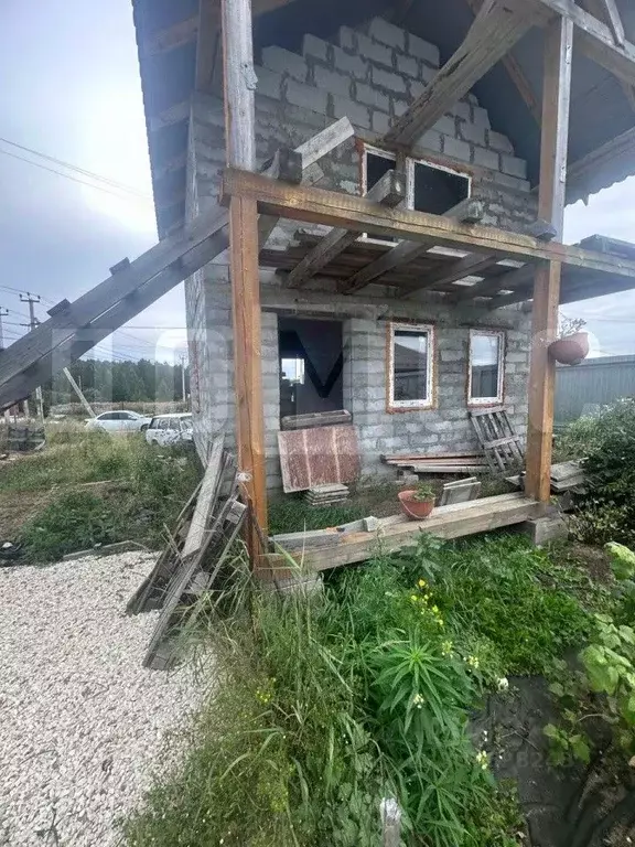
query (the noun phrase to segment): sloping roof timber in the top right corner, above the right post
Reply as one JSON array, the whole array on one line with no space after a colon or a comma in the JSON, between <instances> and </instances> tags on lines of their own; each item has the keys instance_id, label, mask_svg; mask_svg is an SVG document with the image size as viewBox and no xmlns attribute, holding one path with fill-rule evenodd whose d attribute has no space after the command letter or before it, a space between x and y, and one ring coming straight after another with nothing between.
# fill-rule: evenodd
<instances>
[{"instance_id":1,"label":"sloping roof timber in the top right corner, above the right post","mask_svg":"<svg viewBox=\"0 0 635 847\"><path fill-rule=\"evenodd\" d=\"M575 44L590 58L621 79L635 85L635 44L616 44L610 28L573 0L534 0L543 9L557 12L575 24Z\"/></svg>"}]
</instances>

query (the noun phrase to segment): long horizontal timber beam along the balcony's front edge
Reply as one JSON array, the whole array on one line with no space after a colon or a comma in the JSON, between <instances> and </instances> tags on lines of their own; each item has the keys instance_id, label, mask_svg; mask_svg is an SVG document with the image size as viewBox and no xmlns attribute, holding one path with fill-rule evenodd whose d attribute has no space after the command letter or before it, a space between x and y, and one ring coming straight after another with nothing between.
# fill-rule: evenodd
<instances>
[{"instance_id":1,"label":"long horizontal timber beam along the balcony's front edge","mask_svg":"<svg viewBox=\"0 0 635 847\"><path fill-rule=\"evenodd\" d=\"M528 235L474 224L466 226L441 215L385 208L365 197L306 185L287 185L257 173L228 169L224 176L225 196L239 195L258 202L266 214L326 226L346 226L373 235L429 240L439 246L464 250L499 253L502 257L538 261L547 259L584 267L602 274L635 279L635 261L586 250L560 242L545 244Z\"/></svg>"}]
</instances>

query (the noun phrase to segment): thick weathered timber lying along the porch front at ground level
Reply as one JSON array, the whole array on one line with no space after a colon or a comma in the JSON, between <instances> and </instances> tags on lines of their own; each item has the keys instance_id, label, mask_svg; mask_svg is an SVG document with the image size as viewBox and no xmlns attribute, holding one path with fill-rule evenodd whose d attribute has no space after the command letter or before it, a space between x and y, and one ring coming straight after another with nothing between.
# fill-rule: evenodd
<instances>
[{"instance_id":1,"label":"thick weathered timber lying along the porch front at ground level","mask_svg":"<svg viewBox=\"0 0 635 847\"><path fill-rule=\"evenodd\" d=\"M366 561L380 549L392 553L417 543L421 532L438 538L461 538L476 533L498 529L538 517L542 505L524 494L503 494L483 497L470 503L439 506L427 521L400 521L383 527L381 538L368 537L368 533L344 536L336 547L325 550L305 550L302 567L310 570L330 570L345 565Z\"/></svg>"}]
</instances>

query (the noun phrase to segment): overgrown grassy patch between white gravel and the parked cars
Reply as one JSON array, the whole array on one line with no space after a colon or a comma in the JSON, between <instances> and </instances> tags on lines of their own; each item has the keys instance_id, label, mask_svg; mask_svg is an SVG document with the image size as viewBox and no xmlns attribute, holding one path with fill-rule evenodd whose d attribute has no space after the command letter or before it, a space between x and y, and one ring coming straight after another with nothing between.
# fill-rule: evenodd
<instances>
[{"instance_id":1,"label":"overgrown grassy patch between white gravel and the parked cars","mask_svg":"<svg viewBox=\"0 0 635 847\"><path fill-rule=\"evenodd\" d=\"M58 486L20 534L26 557L39 562L118 540L162 546L165 527L173 529L200 479L191 450L159 451L141 435L111 438L85 430L2 471L0 497L7 501ZM100 481L108 484L86 486Z\"/></svg>"}]
</instances>

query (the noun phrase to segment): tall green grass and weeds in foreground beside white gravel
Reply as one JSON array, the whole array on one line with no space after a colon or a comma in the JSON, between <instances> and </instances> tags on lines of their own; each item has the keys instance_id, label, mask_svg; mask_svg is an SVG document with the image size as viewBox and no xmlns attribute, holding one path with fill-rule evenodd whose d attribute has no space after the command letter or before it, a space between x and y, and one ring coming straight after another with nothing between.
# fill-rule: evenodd
<instances>
[{"instance_id":1,"label":"tall green grass and weeds in foreground beside white gravel","mask_svg":"<svg viewBox=\"0 0 635 847\"><path fill-rule=\"evenodd\" d=\"M580 587L518 537L423 536L319 596L256 592L213 615L216 694L183 768L125 822L127 845L376 847L384 796L408 846L519 844L517 803L466 722L501 676L583 642L590 609L560 576Z\"/></svg>"}]
</instances>

